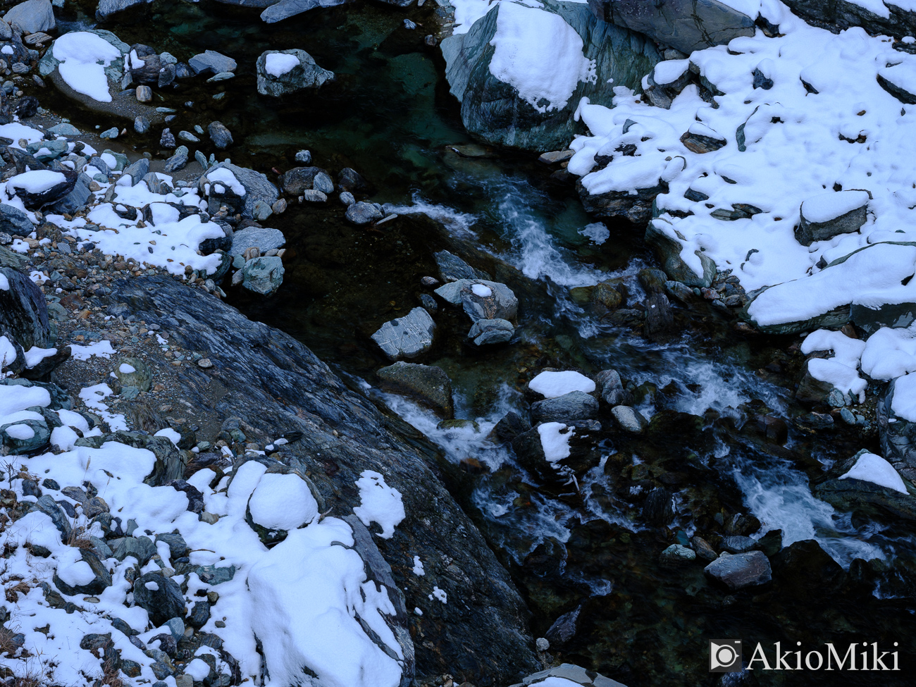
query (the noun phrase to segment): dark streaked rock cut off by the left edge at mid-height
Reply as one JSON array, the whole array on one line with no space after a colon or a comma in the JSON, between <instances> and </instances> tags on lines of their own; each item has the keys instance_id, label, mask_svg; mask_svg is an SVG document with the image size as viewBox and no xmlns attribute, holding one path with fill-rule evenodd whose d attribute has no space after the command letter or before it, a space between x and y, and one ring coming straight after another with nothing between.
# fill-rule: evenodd
<instances>
[{"instance_id":1,"label":"dark streaked rock cut off by the left edge at mid-height","mask_svg":"<svg viewBox=\"0 0 916 687\"><path fill-rule=\"evenodd\" d=\"M25 350L49 348L48 306L35 283L12 267L0 267L0 334L7 334Z\"/></svg>"}]
</instances>

